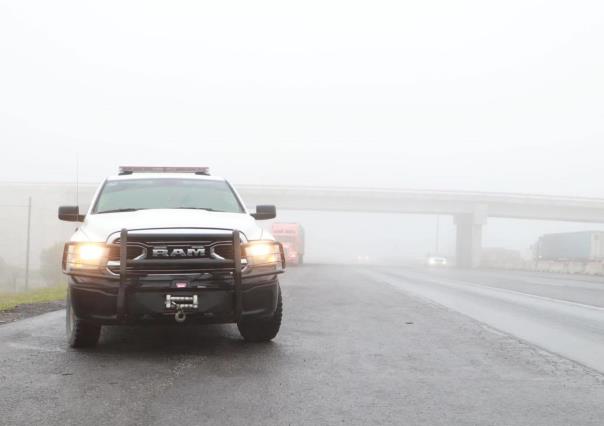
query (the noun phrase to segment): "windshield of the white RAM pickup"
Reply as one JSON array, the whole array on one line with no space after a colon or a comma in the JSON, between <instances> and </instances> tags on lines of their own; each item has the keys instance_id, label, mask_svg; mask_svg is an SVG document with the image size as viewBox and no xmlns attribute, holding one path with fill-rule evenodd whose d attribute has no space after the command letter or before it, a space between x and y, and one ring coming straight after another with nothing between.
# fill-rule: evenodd
<instances>
[{"instance_id":1,"label":"windshield of the white RAM pickup","mask_svg":"<svg viewBox=\"0 0 604 426\"><path fill-rule=\"evenodd\" d=\"M243 212L233 190L224 181L160 178L106 182L93 213L142 209Z\"/></svg>"}]
</instances>

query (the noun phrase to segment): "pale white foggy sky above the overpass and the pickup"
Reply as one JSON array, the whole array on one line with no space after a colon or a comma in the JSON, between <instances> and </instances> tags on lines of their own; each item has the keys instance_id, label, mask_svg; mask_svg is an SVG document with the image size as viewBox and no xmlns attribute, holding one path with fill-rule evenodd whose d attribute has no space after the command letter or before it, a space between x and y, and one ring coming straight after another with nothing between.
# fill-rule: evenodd
<instances>
[{"instance_id":1,"label":"pale white foggy sky above the overpass and the pickup","mask_svg":"<svg viewBox=\"0 0 604 426\"><path fill-rule=\"evenodd\" d=\"M601 1L0 0L0 180L604 197Z\"/></svg>"}]
</instances>

